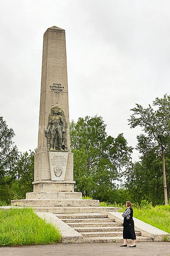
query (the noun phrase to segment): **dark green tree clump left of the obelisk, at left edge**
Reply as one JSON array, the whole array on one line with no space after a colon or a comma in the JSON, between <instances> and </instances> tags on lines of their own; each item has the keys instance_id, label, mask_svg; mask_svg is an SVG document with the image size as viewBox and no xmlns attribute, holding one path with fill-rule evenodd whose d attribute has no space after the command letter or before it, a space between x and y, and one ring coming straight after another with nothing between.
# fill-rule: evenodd
<instances>
[{"instance_id":1,"label":"dark green tree clump left of the obelisk, at left edge","mask_svg":"<svg viewBox=\"0 0 170 256\"><path fill-rule=\"evenodd\" d=\"M34 151L19 153L13 142L14 131L0 117L0 201L25 198L32 191Z\"/></svg>"}]
</instances>

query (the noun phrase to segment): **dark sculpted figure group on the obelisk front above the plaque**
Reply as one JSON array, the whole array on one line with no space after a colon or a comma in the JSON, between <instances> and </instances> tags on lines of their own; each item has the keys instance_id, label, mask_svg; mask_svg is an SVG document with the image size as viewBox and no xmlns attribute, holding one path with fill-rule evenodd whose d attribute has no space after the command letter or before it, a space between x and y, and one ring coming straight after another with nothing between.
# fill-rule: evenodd
<instances>
[{"instance_id":1,"label":"dark sculpted figure group on the obelisk front above the plaque","mask_svg":"<svg viewBox=\"0 0 170 256\"><path fill-rule=\"evenodd\" d=\"M45 135L51 133L50 139L50 150L66 150L66 133L65 133L65 121L62 118L62 112L59 112L57 109L53 109L52 116L48 122L48 128L45 131Z\"/></svg>"}]
</instances>

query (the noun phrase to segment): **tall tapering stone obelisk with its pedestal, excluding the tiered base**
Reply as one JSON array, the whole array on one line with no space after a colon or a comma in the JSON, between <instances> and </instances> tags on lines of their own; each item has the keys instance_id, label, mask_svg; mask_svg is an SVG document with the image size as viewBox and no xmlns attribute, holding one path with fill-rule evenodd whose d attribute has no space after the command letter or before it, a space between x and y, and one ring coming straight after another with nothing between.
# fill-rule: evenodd
<instances>
[{"instance_id":1,"label":"tall tapering stone obelisk with its pedestal, excluding the tiered base","mask_svg":"<svg viewBox=\"0 0 170 256\"><path fill-rule=\"evenodd\" d=\"M60 118L59 124L55 124L56 118ZM65 30L53 26L47 29L43 40L34 191L74 191L74 183L69 134Z\"/></svg>"}]
</instances>

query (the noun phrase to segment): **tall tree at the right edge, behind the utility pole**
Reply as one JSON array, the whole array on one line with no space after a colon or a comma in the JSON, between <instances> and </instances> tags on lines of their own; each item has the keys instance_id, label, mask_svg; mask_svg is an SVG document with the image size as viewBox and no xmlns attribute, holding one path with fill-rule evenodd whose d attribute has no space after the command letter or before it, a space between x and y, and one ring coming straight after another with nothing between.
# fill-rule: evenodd
<instances>
[{"instance_id":1,"label":"tall tree at the right edge, behind the utility pole","mask_svg":"<svg viewBox=\"0 0 170 256\"><path fill-rule=\"evenodd\" d=\"M167 191L170 197L170 96L165 94L163 98L157 97L153 106L147 108L136 104L131 111L130 127L142 128L136 146L142 155L140 161L131 164L127 170L126 187L136 202L147 199L154 204L163 203L161 143L158 135L162 135L165 147Z\"/></svg>"}]
</instances>

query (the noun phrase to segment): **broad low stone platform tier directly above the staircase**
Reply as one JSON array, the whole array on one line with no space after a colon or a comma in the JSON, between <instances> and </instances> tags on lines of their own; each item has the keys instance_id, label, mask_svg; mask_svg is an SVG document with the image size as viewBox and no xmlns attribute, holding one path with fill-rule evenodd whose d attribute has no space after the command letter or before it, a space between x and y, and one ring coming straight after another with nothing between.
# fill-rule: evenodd
<instances>
[{"instance_id":1,"label":"broad low stone platform tier directly above the staircase","mask_svg":"<svg viewBox=\"0 0 170 256\"><path fill-rule=\"evenodd\" d=\"M85 200L83 200L85 201ZM52 212L54 214L70 214L70 213L102 213L102 212L118 212L116 207L101 207L101 206L31 206L34 212Z\"/></svg>"}]
</instances>

